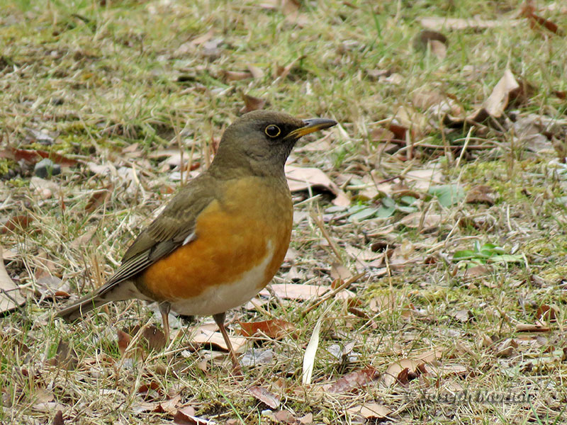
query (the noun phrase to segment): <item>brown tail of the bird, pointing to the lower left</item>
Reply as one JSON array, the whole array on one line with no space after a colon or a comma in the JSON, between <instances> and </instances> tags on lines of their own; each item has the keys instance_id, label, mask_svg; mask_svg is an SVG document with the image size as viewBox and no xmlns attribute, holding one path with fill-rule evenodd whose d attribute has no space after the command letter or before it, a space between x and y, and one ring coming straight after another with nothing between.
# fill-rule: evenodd
<instances>
[{"instance_id":1,"label":"brown tail of the bird, pointing to the lower left","mask_svg":"<svg viewBox=\"0 0 567 425\"><path fill-rule=\"evenodd\" d=\"M55 317L61 317L65 322L74 322L86 312L108 304L108 302L131 300L132 298L148 300L130 280L103 285L74 304L60 310L60 312L55 314Z\"/></svg>"}]
</instances>

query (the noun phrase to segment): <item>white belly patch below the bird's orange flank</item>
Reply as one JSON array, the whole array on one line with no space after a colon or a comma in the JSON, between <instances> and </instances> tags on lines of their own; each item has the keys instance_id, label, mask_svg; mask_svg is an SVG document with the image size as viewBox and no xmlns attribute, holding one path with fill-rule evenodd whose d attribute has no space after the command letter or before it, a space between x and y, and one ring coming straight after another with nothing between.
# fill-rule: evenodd
<instances>
[{"instance_id":1,"label":"white belly patch below the bird's orange flank","mask_svg":"<svg viewBox=\"0 0 567 425\"><path fill-rule=\"evenodd\" d=\"M268 243L267 248L267 254L262 263L242 273L237 280L215 288L208 288L190 300L172 302L172 310L191 316L210 316L223 313L249 301L262 289L259 288L259 285L264 281L266 268L274 257L274 246L271 242Z\"/></svg>"}]
</instances>

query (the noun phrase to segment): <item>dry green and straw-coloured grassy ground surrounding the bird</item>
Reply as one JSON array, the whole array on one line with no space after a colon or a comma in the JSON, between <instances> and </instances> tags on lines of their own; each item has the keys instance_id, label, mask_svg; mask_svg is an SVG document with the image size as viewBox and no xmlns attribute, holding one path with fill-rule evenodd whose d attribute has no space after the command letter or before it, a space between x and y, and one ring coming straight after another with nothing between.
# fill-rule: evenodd
<instances>
[{"instance_id":1,"label":"dry green and straw-coloured grassy ground surrounding the bird","mask_svg":"<svg viewBox=\"0 0 567 425\"><path fill-rule=\"evenodd\" d=\"M0 151L77 161L46 183L32 179L30 162L0 159L1 216L12 217L0 244L28 297L0 319L1 423L189 424L178 413L187 407L221 424L565 421L564 38L527 18L512 22L515 1L296 6L0 1ZM535 6L567 28L561 2ZM499 25L442 29L442 57L415 42L428 16ZM447 103L451 115L472 113L507 68L526 84L503 117L448 128L434 113ZM329 300L303 316L305 302L272 297L231 312L232 333L237 320L274 317L297 328L255 341L273 357L240 380L226 356L189 352L191 332L166 352L124 354L118 329L159 326L141 303L111 305L73 327L54 321L67 302L54 288L75 296L109 276L179 185L176 153L192 164L183 178L202 171L244 94L339 121L323 142L304 141L292 162L325 171L351 209L332 205L329 193L295 193L294 251L275 282L330 285L332 263L342 263L343 278L366 272L349 288L356 301ZM402 126L398 142L383 130L391 123ZM417 171L422 181L411 177ZM313 382L303 385L318 320ZM346 386L332 387L341 378ZM281 397L279 407L259 402L253 385ZM517 402L454 399L465 390ZM376 405L379 414L357 413Z\"/></svg>"}]
</instances>

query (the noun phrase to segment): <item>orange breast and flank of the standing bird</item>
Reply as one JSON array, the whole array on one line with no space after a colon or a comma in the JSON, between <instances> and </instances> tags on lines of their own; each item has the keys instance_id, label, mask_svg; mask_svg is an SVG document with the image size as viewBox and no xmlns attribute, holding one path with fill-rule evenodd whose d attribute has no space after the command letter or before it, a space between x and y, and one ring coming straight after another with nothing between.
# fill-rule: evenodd
<instances>
[{"instance_id":1,"label":"orange breast and flank of the standing bird","mask_svg":"<svg viewBox=\"0 0 567 425\"><path fill-rule=\"evenodd\" d=\"M222 200L198 216L196 239L140 276L142 292L159 301L189 300L238 281L271 255L263 278L254 282L257 290L264 288L278 271L291 235L291 196L282 186L256 177L228 184Z\"/></svg>"}]
</instances>

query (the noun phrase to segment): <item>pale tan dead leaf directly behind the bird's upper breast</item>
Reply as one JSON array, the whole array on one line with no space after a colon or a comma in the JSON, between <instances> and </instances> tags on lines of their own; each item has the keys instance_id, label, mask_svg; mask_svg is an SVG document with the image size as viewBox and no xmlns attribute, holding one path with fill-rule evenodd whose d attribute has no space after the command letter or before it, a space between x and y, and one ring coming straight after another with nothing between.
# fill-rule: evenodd
<instances>
[{"instance_id":1,"label":"pale tan dead leaf directly behind the bird's upper breast","mask_svg":"<svg viewBox=\"0 0 567 425\"><path fill-rule=\"evenodd\" d=\"M334 205L350 205L349 197L323 171L317 168L286 165L288 186L292 192L323 188L335 195Z\"/></svg>"}]
</instances>

